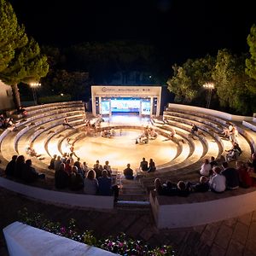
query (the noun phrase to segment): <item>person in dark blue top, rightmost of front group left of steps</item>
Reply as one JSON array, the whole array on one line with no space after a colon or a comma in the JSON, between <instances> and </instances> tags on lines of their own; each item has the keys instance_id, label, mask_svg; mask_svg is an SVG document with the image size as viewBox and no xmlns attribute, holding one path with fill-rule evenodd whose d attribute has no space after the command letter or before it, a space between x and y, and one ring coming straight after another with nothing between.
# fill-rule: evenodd
<instances>
[{"instance_id":1,"label":"person in dark blue top, rightmost of front group left of steps","mask_svg":"<svg viewBox=\"0 0 256 256\"><path fill-rule=\"evenodd\" d=\"M112 178L108 177L108 171L102 171L102 177L99 177L99 194L100 195L114 195L114 201L118 200L119 188L117 185L112 185Z\"/></svg>"}]
</instances>

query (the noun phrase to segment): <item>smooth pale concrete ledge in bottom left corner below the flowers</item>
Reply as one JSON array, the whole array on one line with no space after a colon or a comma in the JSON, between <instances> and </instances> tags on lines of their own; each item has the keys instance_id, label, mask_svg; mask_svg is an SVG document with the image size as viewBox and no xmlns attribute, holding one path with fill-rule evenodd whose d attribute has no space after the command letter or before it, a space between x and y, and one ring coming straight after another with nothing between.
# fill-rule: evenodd
<instances>
[{"instance_id":1,"label":"smooth pale concrete ledge in bottom left corner below the flowers","mask_svg":"<svg viewBox=\"0 0 256 256\"><path fill-rule=\"evenodd\" d=\"M3 229L9 256L111 256L97 247L15 222Z\"/></svg>"}]
</instances>

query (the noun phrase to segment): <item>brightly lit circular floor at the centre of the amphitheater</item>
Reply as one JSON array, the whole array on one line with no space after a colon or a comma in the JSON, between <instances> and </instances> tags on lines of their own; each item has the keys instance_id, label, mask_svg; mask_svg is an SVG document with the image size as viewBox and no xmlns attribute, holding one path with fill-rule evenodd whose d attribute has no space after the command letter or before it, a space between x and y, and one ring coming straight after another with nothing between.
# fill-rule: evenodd
<instances>
[{"instance_id":1,"label":"brightly lit circular floor at the centre of the amphitheater","mask_svg":"<svg viewBox=\"0 0 256 256\"><path fill-rule=\"evenodd\" d=\"M125 169L127 163L131 169L136 170L143 157L149 161L152 158L156 166L163 165L172 160L177 153L177 145L166 137L158 136L155 140L149 140L148 144L136 144L136 138L142 134L142 130L122 129L115 130L116 135L107 137L84 137L74 144L75 153L93 166L96 160L104 165L108 160L112 168L119 171Z\"/></svg>"}]
</instances>

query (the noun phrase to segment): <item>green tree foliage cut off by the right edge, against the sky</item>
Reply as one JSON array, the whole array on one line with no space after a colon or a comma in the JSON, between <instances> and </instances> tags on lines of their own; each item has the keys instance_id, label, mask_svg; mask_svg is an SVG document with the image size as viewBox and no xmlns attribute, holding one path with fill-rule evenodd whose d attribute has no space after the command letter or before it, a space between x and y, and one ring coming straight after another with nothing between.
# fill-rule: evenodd
<instances>
[{"instance_id":1,"label":"green tree foliage cut off by the right edge, against the sky","mask_svg":"<svg viewBox=\"0 0 256 256\"><path fill-rule=\"evenodd\" d=\"M249 45L250 58L246 60L246 73L249 77L256 80L256 26L253 24L250 34L247 37ZM256 88L255 88L256 90Z\"/></svg>"}]
</instances>

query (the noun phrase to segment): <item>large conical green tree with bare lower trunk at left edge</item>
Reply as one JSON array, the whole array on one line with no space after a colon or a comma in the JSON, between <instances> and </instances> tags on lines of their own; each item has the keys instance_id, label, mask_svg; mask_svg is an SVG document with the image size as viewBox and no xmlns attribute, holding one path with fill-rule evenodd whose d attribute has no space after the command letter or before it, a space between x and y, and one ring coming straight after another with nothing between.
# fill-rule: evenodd
<instances>
[{"instance_id":1,"label":"large conical green tree with bare lower trunk at left edge","mask_svg":"<svg viewBox=\"0 0 256 256\"><path fill-rule=\"evenodd\" d=\"M12 86L16 108L20 107L17 84L38 81L48 73L47 57L38 43L26 37L12 6L0 0L0 79Z\"/></svg>"}]
</instances>

